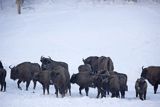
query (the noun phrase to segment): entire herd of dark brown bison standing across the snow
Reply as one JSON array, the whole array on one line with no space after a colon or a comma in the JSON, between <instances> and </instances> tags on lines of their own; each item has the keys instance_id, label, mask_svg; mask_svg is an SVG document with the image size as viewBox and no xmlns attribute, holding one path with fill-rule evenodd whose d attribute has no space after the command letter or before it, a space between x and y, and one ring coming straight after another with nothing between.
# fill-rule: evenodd
<instances>
[{"instance_id":1,"label":"entire herd of dark brown bison standing across the snow","mask_svg":"<svg viewBox=\"0 0 160 107\"><path fill-rule=\"evenodd\" d=\"M125 91L128 91L127 75L114 71L113 61L110 57L89 56L83 59L84 65L78 67L78 73L70 77L68 64L65 62L54 61L50 57L41 57L41 66L38 63L23 62L11 69L10 78L17 80L17 86L22 90L20 83L26 82L26 90L28 90L31 80L36 88L36 82L42 84L43 94L45 90L49 94L49 86L54 85L55 94L58 93L64 97L69 92L71 95L71 83L79 85L79 94L85 89L88 96L89 87L97 88L97 98L99 96L106 97L111 93L111 97L125 98ZM0 61L0 84L1 91L6 91L6 70ZM160 84L160 67L149 66L142 67L141 77L135 82L136 97L141 100L146 99L147 79L154 86L154 94L156 94L158 84Z\"/></svg>"}]
</instances>

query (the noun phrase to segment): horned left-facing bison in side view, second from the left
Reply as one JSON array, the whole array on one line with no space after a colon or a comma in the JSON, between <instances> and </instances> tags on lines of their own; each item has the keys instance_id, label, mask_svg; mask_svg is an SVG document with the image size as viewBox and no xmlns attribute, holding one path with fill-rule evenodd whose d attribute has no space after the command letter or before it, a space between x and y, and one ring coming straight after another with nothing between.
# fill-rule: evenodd
<instances>
[{"instance_id":1,"label":"horned left-facing bison in side view, second from the left","mask_svg":"<svg viewBox=\"0 0 160 107\"><path fill-rule=\"evenodd\" d=\"M18 79L17 85L20 90L22 88L20 87L20 83L26 82L26 90L28 90L30 81L33 80L33 75L36 72L40 72L41 68L38 63L31 63L31 62L23 62L17 65L16 67L9 67L11 69L11 75L10 78L13 80ZM34 89L36 87L36 81L34 82Z\"/></svg>"}]
</instances>

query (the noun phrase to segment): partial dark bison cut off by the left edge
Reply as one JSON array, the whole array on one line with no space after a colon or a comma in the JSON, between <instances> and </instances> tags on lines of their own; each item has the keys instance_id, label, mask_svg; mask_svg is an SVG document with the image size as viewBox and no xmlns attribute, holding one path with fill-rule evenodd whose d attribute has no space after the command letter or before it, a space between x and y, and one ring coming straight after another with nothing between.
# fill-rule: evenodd
<instances>
[{"instance_id":1,"label":"partial dark bison cut off by the left edge","mask_svg":"<svg viewBox=\"0 0 160 107\"><path fill-rule=\"evenodd\" d=\"M1 91L6 91L6 70L3 68L0 68L0 84L1 84Z\"/></svg>"}]
</instances>

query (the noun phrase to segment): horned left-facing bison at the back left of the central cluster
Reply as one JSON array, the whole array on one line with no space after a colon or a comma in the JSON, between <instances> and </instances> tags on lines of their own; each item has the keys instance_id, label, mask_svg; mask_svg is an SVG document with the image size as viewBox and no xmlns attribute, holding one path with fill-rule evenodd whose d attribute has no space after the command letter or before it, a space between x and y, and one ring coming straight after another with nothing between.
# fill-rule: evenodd
<instances>
[{"instance_id":1,"label":"horned left-facing bison at the back left of the central cluster","mask_svg":"<svg viewBox=\"0 0 160 107\"><path fill-rule=\"evenodd\" d=\"M92 72L94 74L98 71L98 58L97 56L90 56L86 59L83 59L84 64L90 64L92 68Z\"/></svg>"}]
</instances>

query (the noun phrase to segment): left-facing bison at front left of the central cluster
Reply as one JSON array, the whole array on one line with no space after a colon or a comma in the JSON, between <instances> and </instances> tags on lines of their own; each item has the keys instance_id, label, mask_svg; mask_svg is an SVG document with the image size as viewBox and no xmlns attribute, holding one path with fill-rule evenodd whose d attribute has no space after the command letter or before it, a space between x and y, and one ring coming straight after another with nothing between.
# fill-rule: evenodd
<instances>
[{"instance_id":1,"label":"left-facing bison at front left of the central cluster","mask_svg":"<svg viewBox=\"0 0 160 107\"><path fill-rule=\"evenodd\" d=\"M93 87L94 75L89 72L79 72L71 76L70 82L79 85L79 94L82 95L81 90L85 89L86 96L88 96L89 87Z\"/></svg>"}]
</instances>

